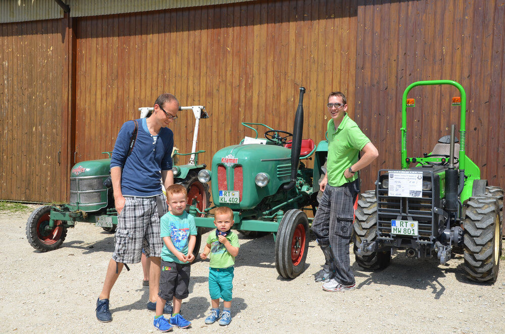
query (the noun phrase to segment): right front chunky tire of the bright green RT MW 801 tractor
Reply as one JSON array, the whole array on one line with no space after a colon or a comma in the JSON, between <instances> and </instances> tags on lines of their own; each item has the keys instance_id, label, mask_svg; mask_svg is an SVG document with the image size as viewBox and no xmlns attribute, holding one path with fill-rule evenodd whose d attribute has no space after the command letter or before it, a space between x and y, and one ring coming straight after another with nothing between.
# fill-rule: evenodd
<instances>
[{"instance_id":1,"label":"right front chunky tire of the bright green RT MW 801 tractor","mask_svg":"<svg viewBox=\"0 0 505 334\"><path fill-rule=\"evenodd\" d=\"M466 276L471 281L494 283L498 277L501 250L499 203L496 197L470 197L463 229Z\"/></svg>"}]
</instances>

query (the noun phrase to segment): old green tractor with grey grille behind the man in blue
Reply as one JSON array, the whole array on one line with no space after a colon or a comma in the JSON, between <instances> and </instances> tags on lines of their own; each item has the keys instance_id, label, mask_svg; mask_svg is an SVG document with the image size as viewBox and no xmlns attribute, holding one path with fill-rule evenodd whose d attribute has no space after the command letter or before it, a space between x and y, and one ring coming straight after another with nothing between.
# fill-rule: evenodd
<instances>
[{"instance_id":1,"label":"old green tractor with grey grille behind the man in blue","mask_svg":"<svg viewBox=\"0 0 505 334\"><path fill-rule=\"evenodd\" d=\"M140 117L147 117L152 109L139 108ZM206 168L206 164L198 164L198 154L205 151L195 150L199 120L209 116L203 105L183 106L179 109L193 112L195 127L191 153L175 153L180 156L189 155L190 158L186 164L173 167L174 182L185 186L191 202L195 203L200 212L204 212L210 203L210 193L207 184L198 181L197 174ZM116 231L118 216L113 189L108 182L110 152L104 153L109 154L109 158L81 161L72 167L68 204L44 205L31 213L26 224L26 237L33 248L42 252L60 248L67 236L67 229L75 227L77 222L88 222L110 233Z\"/></svg>"}]
</instances>

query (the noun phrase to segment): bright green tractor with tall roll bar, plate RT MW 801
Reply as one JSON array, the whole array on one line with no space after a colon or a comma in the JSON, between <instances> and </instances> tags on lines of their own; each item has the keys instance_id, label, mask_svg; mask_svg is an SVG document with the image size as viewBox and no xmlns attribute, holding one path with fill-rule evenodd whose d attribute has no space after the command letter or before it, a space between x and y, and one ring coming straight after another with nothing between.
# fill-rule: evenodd
<instances>
[{"instance_id":1,"label":"bright green tractor with tall roll bar, plate RT MW 801","mask_svg":"<svg viewBox=\"0 0 505 334\"><path fill-rule=\"evenodd\" d=\"M460 97L460 135L455 126L422 157L407 154L407 95L417 86L452 85ZM385 268L391 255L437 257L444 265L454 252L464 254L468 279L495 282L502 237L503 190L481 180L480 170L465 153L466 95L450 80L418 81L403 92L401 104L401 170L378 172L376 188L360 196L354 222L354 253L366 269ZM413 166L410 166L413 164Z\"/></svg>"}]
</instances>

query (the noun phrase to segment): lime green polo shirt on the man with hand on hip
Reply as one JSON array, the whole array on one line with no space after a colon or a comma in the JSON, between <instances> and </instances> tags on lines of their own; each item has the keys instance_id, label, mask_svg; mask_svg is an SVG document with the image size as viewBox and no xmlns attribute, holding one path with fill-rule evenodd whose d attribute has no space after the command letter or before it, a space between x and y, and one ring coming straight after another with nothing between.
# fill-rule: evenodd
<instances>
[{"instance_id":1,"label":"lime green polo shirt on the man with hand on hip","mask_svg":"<svg viewBox=\"0 0 505 334\"><path fill-rule=\"evenodd\" d=\"M360 130L358 124L345 113L342 122L335 130L333 119L328 121L328 184L339 187L358 179L358 173L350 179L344 177L344 171L358 161L358 153L370 142Z\"/></svg>"}]
</instances>

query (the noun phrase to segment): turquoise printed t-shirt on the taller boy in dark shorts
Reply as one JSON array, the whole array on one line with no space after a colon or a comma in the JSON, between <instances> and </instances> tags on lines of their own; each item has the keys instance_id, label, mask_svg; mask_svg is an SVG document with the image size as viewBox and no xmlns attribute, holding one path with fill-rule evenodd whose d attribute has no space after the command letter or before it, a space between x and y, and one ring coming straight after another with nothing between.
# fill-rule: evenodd
<instances>
[{"instance_id":1,"label":"turquoise printed t-shirt on the taller boy in dark shorts","mask_svg":"<svg viewBox=\"0 0 505 334\"><path fill-rule=\"evenodd\" d=\"M194 218L192 215L184 211L180 216L174 216L171 212L167 212L161 217L161 233L160 237L170 237L172 244L174 244L175 249L184 255L188 254L189 248L189 236L196 235L196 225L194 224ZM161 251L161 258L163 261L177 262L177 263L187 263L181 262L163 243L163 250Z\"/></svg>"}]
</instances>

